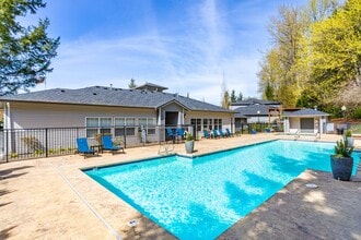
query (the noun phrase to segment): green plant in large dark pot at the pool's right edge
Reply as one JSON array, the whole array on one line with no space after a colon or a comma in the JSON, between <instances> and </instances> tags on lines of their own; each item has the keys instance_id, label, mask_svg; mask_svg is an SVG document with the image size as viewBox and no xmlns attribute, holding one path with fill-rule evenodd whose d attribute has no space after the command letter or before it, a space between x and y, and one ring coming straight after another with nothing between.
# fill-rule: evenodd
<instances>
[{"instance_id":1,"label":"green plant in large dark pot at the pool's right edge","mask_svg":"<svg viewBox=\"0 0 361 240\"><path fill-rule=\"evenodd\" d=\"M330 165L335 179L341 181L350 180L353 167L352 152L353 146L348 144L347 137L336 142L335 155L330 156Z\"/></svg>"}]
</instances>

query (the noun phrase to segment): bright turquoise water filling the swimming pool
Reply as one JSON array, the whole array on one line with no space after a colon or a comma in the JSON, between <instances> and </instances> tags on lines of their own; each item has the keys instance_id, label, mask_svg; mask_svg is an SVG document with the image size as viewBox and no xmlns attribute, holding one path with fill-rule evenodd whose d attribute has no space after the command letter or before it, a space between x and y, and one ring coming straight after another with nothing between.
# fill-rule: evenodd
<instances>
[{"instance_id":1,"label":"bright turquoise water filling the swimming pool","mask_svg":"<svg viewBox=\"0 0 361 240\"><path fill-rule=\"evenodd\" d=\"M273 141L84 172L177 238L214 239L306 168L330 171L334 145Z\"/></svg>"}]
</instances>

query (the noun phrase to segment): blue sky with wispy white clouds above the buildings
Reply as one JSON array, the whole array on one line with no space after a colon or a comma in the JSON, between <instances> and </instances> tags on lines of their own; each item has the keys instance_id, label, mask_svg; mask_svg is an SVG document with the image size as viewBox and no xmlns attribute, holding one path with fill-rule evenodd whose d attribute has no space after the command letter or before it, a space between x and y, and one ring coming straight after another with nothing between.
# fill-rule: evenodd
<instances>
[{"instance_id":1,"label":"blue sky with wispy white clouds above the buildings","mask_svg":"<svg viewBox=\"0 0 361 240\"><path fill-rule=\"evenodd\" d=\"M257 71L270 47L269 17L280 4L307 0L61 0L34 19L60 36L54 72L32 91L101 85L127 88L130 79L220 105L229 91L259 97ZM224 76L224 77L223 77Z\"/></svg>"}]
</instances>

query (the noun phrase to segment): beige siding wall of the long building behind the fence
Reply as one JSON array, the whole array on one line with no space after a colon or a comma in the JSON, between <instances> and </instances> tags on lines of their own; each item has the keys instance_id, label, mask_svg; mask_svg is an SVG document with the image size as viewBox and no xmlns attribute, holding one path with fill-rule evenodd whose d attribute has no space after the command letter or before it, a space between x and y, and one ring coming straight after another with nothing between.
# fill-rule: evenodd
<instances>
[{"instance_id":1,"label":"beige siding wall of the long building behind the fence","mask_svg":"<svg viewBox=\"0 0 361 240\"><path fill-rule=\"evenodd\" d=\"M232 130L232 117L233 113L222 113L222 112L206 112L206 111L185 111L184 108L177 104L170 104L163 108L156 109L145 109L145 108L120 108L120 107L107 107L107 106L83 106L83 105L65 105L65 104L36 104L36 103L7 103L4 106L9 106L4 110L4 120L8 122L7 129L20 130L16 133L8 135L8 140L14 143L22 142L24 135L22 132L24 129L38 129L38 128L78 128L83 127L84 129L79 130L77 135L71 135L67 142L61 142L60 139L65 134L63 129L51 130L51 137L59 140L59 144L55 146L49 146L51 148L61 148L67 146L74 146L74 141L77 137L89 136L93 134L88 134L85 130L86 118L112 118L112 125L114 125L114 118L133 118L135 122L135 134L127 135L127 146L135 146L143 144L142 129L138 127L138 118L151 118L154 124L164 125L165 123L165 112L176 111L178 112L178 124L190 124L191 118L208 118L208 119L222 119L222 128L229 128ZM184 116L186 115L186 119ZM154 127L155 128L155 127ZM156 127L155 130L147 133L147 142L158 142L165 140L165 129L164 127ZM110 133L114 136L116 130L109 128ZM150 128L152 129L152 127ZM92 130L92 129L88 129ZM190 130L190 129L189 129ZM188 131L189 131L188 130ZM93 130L94 131L94 130ZM95 133L100 133L100 128L95 128ZM70 133L69 133L70 134ZM35 137L43 145L45 145L45 134L31 134L30 137ZM121 137L120 134L117 137ZM95 139L89 137L89 141L93 142ZM9 149L15 151L18 146L13 145ZM18 152L18 151L16 151Z\"/></svg>"}]
</instances>

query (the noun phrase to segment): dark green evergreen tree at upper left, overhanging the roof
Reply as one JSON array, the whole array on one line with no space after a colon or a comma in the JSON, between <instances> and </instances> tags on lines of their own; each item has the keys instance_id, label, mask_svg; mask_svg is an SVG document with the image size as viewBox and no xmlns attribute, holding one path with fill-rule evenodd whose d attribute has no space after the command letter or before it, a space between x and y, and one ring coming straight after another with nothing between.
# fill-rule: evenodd
<instances>
[{"instance_id":1,"label":"dark green evergreen tree at upper left, overhanging the roof","mask_svg":"<svg viewBox=\"0 0 361 240\"><path fill-rule=\"evenodd\" d=\"M23 26L19 17L45 8L43 0L2 0L0 2L0 96L28 91L51 72L60 38L50 38L49 20Z\"/></svg>"}]
</instances>

